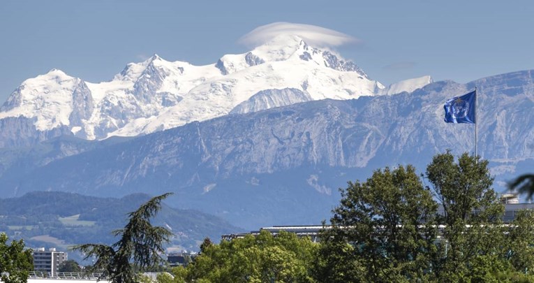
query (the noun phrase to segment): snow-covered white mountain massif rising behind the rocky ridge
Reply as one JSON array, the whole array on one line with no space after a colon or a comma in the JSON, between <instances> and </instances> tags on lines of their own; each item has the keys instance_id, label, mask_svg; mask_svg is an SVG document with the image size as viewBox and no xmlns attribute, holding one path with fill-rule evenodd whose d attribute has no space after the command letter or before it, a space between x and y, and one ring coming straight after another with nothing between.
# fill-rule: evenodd
<instances>
[{"instance_id":1,"label":"snow-covered white mountain massif rising behind the rocky ridge","mask_svg":"<svg viewBox=\"0 0 534 283\"><path fill-rule=\"evenodd\" d=\"M0 108L0 120L22 117L40 136L67 128L77 137L100 140L304 101L410 92L430 81L424 77L386 88L334 52L283 35L206 66L154 55L128 64L107 82L86 82L53 69L17 87ZM9 123L10 131L16 128Z\"/></svg>"}]
</instances>

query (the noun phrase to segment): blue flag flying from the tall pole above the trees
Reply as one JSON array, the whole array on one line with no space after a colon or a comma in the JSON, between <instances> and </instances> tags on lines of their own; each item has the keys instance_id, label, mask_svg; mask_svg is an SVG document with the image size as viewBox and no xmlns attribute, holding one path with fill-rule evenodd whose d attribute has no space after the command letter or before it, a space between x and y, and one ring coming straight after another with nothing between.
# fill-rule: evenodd
<instances>
[{"instance_id":1,"label":"blue flag flying from the tall pole above the trees","mask_svg":"<svg viewBox=\"0 0 534 283\"><path fill-rule=\"evenodd\" d=\"M453 97L445 102L445 122L475 124L476 91Z\"/></svg>"}]
</instances>

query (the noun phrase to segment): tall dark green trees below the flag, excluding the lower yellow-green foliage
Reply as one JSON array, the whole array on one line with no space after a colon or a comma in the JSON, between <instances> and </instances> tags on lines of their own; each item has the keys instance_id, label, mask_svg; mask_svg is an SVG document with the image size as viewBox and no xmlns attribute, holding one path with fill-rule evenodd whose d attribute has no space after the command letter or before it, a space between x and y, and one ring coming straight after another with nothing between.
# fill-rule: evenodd
<instances>
[{"instance_id":1,"label":"tall dark green trees below the flag, excluding the lower yellow-green foliage","mask_svg":"<svg viewBox=\"0 0 534 283\"><path fill-rule=\"evenodd\" d=\"M534 282L534 212L503 224L488 162L437 154L341 189L321 235L319 282ZM439 210L438 205L440 205ZM439 228L439 237L438 231Z\"/></svg>"}]
</instances>

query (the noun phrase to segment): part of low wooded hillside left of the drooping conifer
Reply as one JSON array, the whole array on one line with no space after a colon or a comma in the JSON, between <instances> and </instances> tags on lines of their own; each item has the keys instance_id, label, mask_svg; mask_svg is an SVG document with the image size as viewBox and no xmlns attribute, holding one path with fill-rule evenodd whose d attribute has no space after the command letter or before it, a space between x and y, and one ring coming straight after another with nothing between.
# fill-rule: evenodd
<instances>
[{"instance_id":1,"label":"part of low wooded hillside left of the drooping conifer","mask_svg":"<svg viewBox=\"0 0 534 283\"><path fill-rule=\"evenodd\" d=\"M0 231L17 235L30 245L45 245L30 238L50 235L65 243L112 242L110 230L124 224L126 212L149 199L138 194L117 198L98 198L65 192L35 191L19 198L0 199ZM63 223L61 217L80 215L79 220L94 221L91 226Z\"/></svg>"}]
</instances>

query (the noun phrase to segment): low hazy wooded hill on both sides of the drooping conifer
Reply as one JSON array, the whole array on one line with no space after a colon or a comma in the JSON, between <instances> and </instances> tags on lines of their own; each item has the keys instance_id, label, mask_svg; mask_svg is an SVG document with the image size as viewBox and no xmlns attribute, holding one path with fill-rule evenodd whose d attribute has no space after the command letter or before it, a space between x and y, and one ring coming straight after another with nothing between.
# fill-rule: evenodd
<instances>
[{"instance_id":1,"label":"low hazy wooded hill on both sides of the drooping conifer","mask_svg":"<svg viewBox=\"0 0 534 283\"><path fill-rule=\"evenodd\" d=\"M64 192L31 192L19 198L0 199L0 231L23 238L29 247L59 247L87 242L111 244L111 231L126 224L126 214L150 198L131 194L99 198ZM198 249L206 237L218 241L223 233L241 231L218 217L163 204L154 224L175 234L175 249Z\"/></svg>"}]
</instances>

